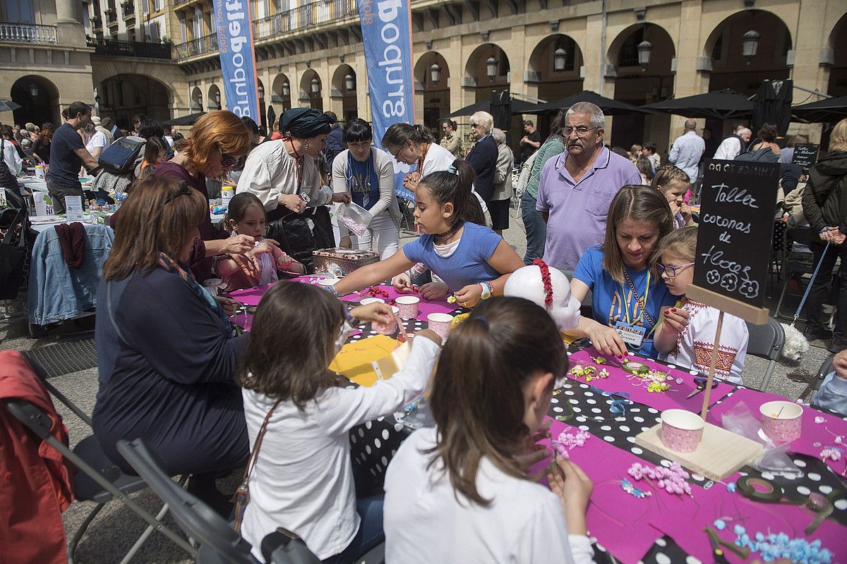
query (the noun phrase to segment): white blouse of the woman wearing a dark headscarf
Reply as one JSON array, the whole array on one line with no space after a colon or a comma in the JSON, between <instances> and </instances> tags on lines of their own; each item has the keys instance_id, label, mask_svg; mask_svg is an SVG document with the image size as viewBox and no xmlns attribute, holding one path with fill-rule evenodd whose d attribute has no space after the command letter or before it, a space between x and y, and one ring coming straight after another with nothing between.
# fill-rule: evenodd
<instances>
[{"instance_id":1,"label":"white blouse of the woman wearing a dark headscarf","mask_svg":"<svg viewBox=\"0 0 847 564\"><path fill-rule=\"evenodd\" d=\"M311 156L303 156L302 182L298 184L297 160L285 151L283 140L268 141L250 151L238 179L236 194L256 194L266 211L274 211L282 194L307 194L310 207L328 204L332 190L324 186Z\"/></svg>"}]
</instances>

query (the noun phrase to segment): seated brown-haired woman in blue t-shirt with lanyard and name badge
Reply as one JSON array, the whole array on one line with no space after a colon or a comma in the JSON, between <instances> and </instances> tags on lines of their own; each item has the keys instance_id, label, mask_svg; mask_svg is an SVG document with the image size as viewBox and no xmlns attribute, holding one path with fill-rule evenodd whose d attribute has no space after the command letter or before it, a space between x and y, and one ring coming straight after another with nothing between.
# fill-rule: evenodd
<instances>
[{"instance_id":1,"label":"seated brown-haired woman in blue t-shirt with lanyard and name badge","mask_svg":"<svg viewBox=\"0 0 847 564\"><path fill-rule=\"evenodd\" d=\"M571 293L583 302L591 291L594 319L579 318L573 331L589 337L604 354L628 350L655 356L653 329L659 312L673 307L655 268L656 244L673 230L667 200L649 186L618 190L606 221L606 241L585 251L571 280ZM668 305L670 304L670 305Z\"/></svg>"}]
</instances>

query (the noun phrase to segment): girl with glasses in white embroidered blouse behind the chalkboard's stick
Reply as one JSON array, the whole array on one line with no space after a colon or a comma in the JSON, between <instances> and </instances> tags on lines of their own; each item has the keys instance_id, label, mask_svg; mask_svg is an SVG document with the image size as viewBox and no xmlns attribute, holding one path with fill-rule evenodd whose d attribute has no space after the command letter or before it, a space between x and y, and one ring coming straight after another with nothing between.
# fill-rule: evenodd
<instances>
[{"instance_id":1,"label":"girl with glasses in white embroidered blouse behind the chalkboard's stick","mask_svg":"<svg viewBox=\"0 0 847 564\"><path fill-rule=\"evenodd\" d=\"M668 291L680 299L675 307L663 312L664 318L656 328L655 344L660 360L708 374L720 311L685 298L685 292L694 280L696 248L696 226L678 229L659 243L659 271ZM734 384L741 383L749 339L750 333L744 320L734 315L723 315L715 375Z\"/></svg>"}]
</instances>

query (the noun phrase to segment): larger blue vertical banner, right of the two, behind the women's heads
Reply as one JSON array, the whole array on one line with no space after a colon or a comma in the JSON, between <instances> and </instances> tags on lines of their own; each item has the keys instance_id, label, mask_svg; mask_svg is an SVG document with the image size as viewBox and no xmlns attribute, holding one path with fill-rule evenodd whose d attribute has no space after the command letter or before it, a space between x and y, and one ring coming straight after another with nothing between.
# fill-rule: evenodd
<instances>
[{"instance_id":1,"label":"larger blue vertical banner, right of the two, behind the women's heads","mask_svg":"<svg viewBox=\"0 0 847 564\"><path fill-rule=\"evenodd\" d=\"M376 145L391 124L415 119L410 1L357 0ZM414 201L414 194L403 188L409 170L408 165L395 162L395 192Z\"/></svg>"}]
</instances>

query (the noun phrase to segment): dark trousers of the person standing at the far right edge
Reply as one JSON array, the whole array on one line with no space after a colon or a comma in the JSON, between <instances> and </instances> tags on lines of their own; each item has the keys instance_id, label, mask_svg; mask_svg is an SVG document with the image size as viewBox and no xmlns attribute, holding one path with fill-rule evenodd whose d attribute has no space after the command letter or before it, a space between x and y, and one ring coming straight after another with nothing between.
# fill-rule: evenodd
<instances>
[{"instance_id":1,"label":"dark trousers of the person standing at the far right edge","mask_svg":"<svg viewBox=\"0 0 847 564\"><path fill-rule=\"evenodd\" d=\"M824 299L827 298L828 288L833 280L833 269L835 268L835 260L841 258L841 267L847 264L847 245L833 246L830 245L826 255L823 250L825 245L819 243L810 243L811 252L814 255L814 264L823 256L821 268L817 271L815 282L811 285L809 298L805 302L805 318L806 326L811 330L825 329L826 322L823 318L822 305ZM844 339L847 338L847 272L841 273L839 276L839 291L838 299L835 307L835 330L833 337Z\"/></svg>"}]
</instances>

